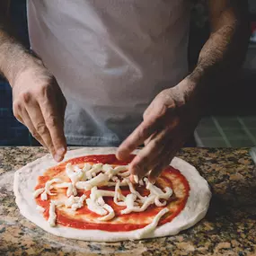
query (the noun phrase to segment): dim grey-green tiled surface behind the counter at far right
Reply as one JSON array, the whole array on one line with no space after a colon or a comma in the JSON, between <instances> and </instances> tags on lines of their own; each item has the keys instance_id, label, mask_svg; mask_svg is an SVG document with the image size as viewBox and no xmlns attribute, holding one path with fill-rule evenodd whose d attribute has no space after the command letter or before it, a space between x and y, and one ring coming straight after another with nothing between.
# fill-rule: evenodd
<instances>
[{"instance_id":1,"label":"dim grey-green tiled surface behind the counter at far right","mask_svg":"<svg viewBox=\"0 0 256 256\"><path fill-rule=\"evenodd\" d=\"M204 118L195 138L198 146L205 147L256 146L256 115Z\"/></svg>"}]
</instances>

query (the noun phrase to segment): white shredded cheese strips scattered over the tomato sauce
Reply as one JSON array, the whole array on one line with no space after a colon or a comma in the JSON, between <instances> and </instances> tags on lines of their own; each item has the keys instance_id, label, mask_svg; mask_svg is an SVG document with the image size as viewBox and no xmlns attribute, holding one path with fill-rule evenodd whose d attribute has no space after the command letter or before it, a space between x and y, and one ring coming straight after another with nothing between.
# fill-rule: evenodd
<instances>
[{"instance_id":1,"label":"white shredded cheese strips scattered over the tomato sauce","mask_svg":"<svg viewBox=\"0 0 256 256\"><path fill-rule=\"evenodd\" d=\"M49 225L56 225L56 207L68 207L72 210L84 207L86 203L89 210L98 214L99 221L109 221L115 216L114 209L106 204L104 197L112 197L116 205L126 207L121 210L121 214L129 214L131 212L142 212L147 207L154 204L156 207L163 207L167 204L167 200L172 196L171 188L164 188L161 190L154 184L148 181L147 178L139 180L137 175L133 175L134 181L139 186L146 185L146 190L149 190L148 196L142 196L136 187L129 181L128 165L113 167L110 164L102 163L84 163L84 167L80 168L78 165L66 164L66 175L70 182L61 182L60 179L55 178L47 181L44 188L35 190L33 197L37 198L40 195L41 200L47 200L48 195L55 195L50 190L53 188L66 188L66 200L64 201L50 201L49 205ZM56 183L53 185L53 183ZM114 191L98 190L101 186L113 186ZM120 187L128 186L130 193L124 196ZM77 190L91 190L90 198L87 199L85 195L77 197ZM37 207L40 212L44 210L43 207ZM160 218L168 211L168 208L161 210L150 225L141 229L139 235L144 237L146 234L152 232L158 224Z\"/></svg>"}]
</instances>

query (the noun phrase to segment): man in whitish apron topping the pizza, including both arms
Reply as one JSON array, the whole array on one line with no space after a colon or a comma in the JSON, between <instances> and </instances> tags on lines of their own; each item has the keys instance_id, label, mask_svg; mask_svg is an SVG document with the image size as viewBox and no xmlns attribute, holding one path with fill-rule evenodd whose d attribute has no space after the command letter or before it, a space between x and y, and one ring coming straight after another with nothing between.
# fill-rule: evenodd
<instances>
[{"instance_id":1,"label":"man in whitish apron topping the pizza, including both arms","mask_svg":"<svg viewBox=\"0 0 256 256\"><path fill-rule=\"evenodd\" d=\"M189 75L189 0L28 1L38 57L6 22L0 32L0 70L13 87L14 116L57 161L66 140L84 146L124 140L120 159L145 143L130 172L142 178L152 170L154 182L196 128L211 94L221 93L241 66L246 2L207 1L211 34Z\"/></svg>"}]
</instances>

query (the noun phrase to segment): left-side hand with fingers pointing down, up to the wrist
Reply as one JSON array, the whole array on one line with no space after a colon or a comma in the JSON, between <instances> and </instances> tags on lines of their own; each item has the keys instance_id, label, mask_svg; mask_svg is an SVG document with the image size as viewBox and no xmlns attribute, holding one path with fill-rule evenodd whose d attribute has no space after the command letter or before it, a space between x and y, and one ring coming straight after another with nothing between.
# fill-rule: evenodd
<instances>
[{"instance_id":1,"label":"left-side hand with fingers pointing down, up to the wrist","mask_svg":"<svg viewBox=\"0 0 256 256\"><path fill-rule=\"evenodd\" d=\"M49 149L57 162L66 153L66 99L56 79L34 59L13 81L13 114L31 135Z\"/></svg>"}]
</instances>

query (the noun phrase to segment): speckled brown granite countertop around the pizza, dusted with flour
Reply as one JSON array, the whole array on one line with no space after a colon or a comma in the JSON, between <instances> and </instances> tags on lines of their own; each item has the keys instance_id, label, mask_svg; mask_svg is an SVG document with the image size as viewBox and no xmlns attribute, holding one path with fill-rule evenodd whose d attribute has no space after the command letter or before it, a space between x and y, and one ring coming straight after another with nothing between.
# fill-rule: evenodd
<instances>
[{"instance_id":1,"label":"speckled brown granite countertop around the pizza, dusted with flour","mask_svg":"<svg viewBox=\"0 0 256 256\"><path fill-rule=\"evenodd\" d=\"M13 173L44 154L40 147L0 147L0 255L256 255L256 169L246 148L181 150L213 191L207 216L175 236L121 243L57 237L20 215Z\"/></svg>"}]
</instances>

